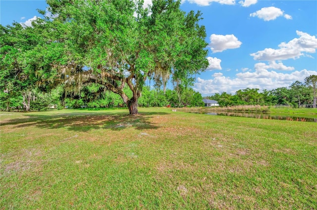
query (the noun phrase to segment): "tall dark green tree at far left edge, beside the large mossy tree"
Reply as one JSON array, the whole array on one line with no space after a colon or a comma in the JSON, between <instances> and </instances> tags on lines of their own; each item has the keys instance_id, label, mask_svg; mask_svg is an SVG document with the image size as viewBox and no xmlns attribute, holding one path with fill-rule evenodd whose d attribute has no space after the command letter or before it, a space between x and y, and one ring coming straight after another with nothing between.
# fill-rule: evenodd
<instances>
[{"instance_id":1,"label":"tall dark green tree at far left edge, beside the large mossy tree","mask_svg":"<svg viewBox=\"0 0 317 210\"><path fill-rule=\"evenodd\" d=\"M42 23L40 20L38 21ZM7 93L1 94L0 97L6 102L6 110L9 109L12 99L16 97L22 97L25 111L30 110L31 98L38 87L41 75L40 71L38 75L35 74L34 66L29 65L30 59L28 58L32 57L30 52L38 44L44 43L41 27L40 24L35 23L32 27L22 27L16 22L12 26L0 25L0 90Z\"/></svg>"}]
</instances>

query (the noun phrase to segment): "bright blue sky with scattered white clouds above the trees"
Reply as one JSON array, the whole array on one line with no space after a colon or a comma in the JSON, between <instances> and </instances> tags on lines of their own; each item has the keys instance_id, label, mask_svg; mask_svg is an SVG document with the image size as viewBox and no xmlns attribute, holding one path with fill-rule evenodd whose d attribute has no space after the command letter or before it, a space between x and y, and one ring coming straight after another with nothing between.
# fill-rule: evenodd
<instances>
[{"instance_id":1,"label":"bright blue sky with scattered white clouds above the trees","mask_svg":"<svg viewBox=\"0 0 317 210\"><path fill-rule=\"evenodd\" d=\"M0 23L29 24L41 17L37 8L46 2L0 0ZM317 75L317 0L183 0L181 9L203 13L210 66L193 88L204 96L271 90Z\"/></svg>"}]
</instances>

